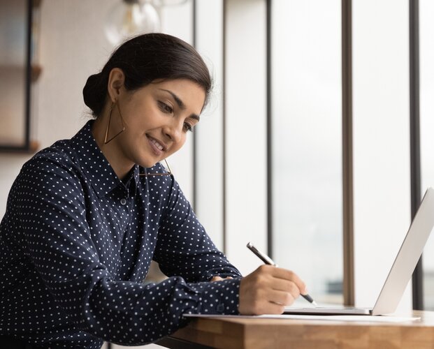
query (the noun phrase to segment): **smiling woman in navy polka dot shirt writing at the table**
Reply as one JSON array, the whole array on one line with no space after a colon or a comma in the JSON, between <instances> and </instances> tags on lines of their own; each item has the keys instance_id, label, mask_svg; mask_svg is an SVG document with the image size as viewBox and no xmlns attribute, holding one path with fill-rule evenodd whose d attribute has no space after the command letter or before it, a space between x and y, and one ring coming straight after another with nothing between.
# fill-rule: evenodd
<instances>
[{"instance_id":1,"label":"smiling woman in navy polka dot shirt writing at the table","mask_svg":"<svg viewBox=\"0 0 434 349\"><path fill-rule=\"evenodd\" d=\"M96 119L22 168L0 226L0 334L35 348L150 343L183 313L282 313L296 274L242 278L159 161L178 151L211 89L178 38L126 41L83 89ZM143 280L151 260L168 279ZM0 342L1 344L1 342Z\"/></svg>"}]
</instances>

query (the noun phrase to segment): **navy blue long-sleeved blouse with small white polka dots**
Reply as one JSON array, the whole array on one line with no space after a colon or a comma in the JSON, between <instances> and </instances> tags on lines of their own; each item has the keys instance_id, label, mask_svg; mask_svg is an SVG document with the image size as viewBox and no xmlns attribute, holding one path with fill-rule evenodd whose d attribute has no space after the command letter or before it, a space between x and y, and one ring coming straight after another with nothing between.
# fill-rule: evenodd
<instances>
[{"instance_id":1,"label":"navy blue long-sleeved blouse with small white polka dots","mask_svg":"<svg viewBox=\"0 0 434 349\"><path fill-rule=\"evenodd\" d=\"M24 164L0 225L0 334L41 348L150 343L238 313L240 273L157 164L120 181L89 121ZM151 260L168 279L143 283ZM209 282L212 276L233 279Z\"/></svg>"}]
</instances>

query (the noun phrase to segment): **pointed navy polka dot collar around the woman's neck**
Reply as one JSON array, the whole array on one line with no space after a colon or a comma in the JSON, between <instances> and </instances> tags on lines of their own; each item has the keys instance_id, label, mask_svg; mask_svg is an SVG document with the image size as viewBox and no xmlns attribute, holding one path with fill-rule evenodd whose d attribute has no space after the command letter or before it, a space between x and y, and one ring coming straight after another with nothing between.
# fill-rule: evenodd
<instances>
[{"instance_id":1,"label":"pointed navy polka dot collar around the woman's neck","mask_svg":"<svg viewBox=\"0 0 434 349\"><path fill-rule=\"evenodd\" d=\"M113 191L117 186L124 186L122 181L117 177L115 171L108 163L106 156L99 149L96 140L92 135L92 124L94 120L89 120L78 133L71 138L71 146L78 157L78 162L85 176L92 184L92 188L99 198ZM136 191L138 184L138 165L134 165L131 172L131 178L126 180L129 188ZM131 183L133 181L133 183ZM135 193L134 193L135 194Z\"/></svg>"}]
</instances>

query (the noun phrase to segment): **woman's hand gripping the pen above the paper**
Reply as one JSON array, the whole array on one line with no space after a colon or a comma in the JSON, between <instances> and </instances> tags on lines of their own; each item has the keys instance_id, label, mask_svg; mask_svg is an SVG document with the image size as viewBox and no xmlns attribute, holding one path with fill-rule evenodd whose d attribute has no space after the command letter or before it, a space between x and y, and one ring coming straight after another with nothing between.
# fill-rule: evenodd
<instances>
[{"instance_id":1,"label":"woman's hand gripping the pen above the paper","mask_svg":"<svg viewBox=\"0 0 434 349\"><path fill-rule=\"evenodd\" d=\"M290 270L261 265L240 282L241 315L282 314L284 306L307 294L305 283Z\"/></svg>"}]
</instances>

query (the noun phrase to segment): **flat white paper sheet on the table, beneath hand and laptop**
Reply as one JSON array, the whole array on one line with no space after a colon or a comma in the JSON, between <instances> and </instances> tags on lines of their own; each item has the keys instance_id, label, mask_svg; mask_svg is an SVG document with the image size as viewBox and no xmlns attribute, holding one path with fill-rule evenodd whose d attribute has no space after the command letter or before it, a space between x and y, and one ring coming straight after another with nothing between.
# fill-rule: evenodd
<instances>
[{"instance_id":1,"label":"flat white paper sheet on the table, beneath hand and laptop","mask_svg":"<svg viewBox=\"0 0 434 349\"><path fill-rule=\"evenodd\" d=\"M184 314L187 318L258 318L258 319L293 319L293 320L321 320L321 321L345 321L345 322L412 322L420 318L386 316L386 315L208 315L208 314Z\"/></svg>"}]
</instances>

